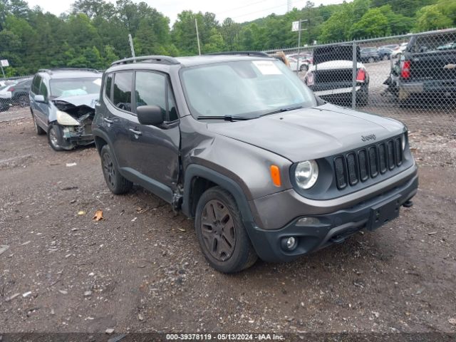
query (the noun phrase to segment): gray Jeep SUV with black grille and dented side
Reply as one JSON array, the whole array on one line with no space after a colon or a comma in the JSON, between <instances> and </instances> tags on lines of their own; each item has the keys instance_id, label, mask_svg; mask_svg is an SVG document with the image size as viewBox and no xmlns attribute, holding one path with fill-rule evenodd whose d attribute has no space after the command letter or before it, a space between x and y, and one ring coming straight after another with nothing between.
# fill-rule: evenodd
<instances>
[{"instance_id":1,"label":"gray Jeep SUV with black grille and dented side","mask_svg":"<svg viewBox=\"0 0 456 342\"><path fill-rule=\"evenodd\" d=\"M402 123L324 103L284 63L249 55L113 63L93 120L109 189L136 183L195 218L222 272L296 259L412 205Z\"/></svg>"}]
</instances>

